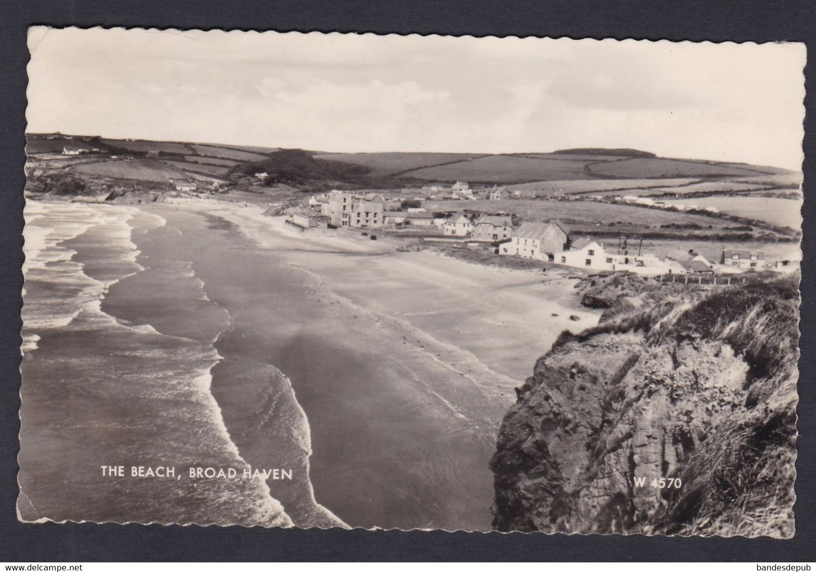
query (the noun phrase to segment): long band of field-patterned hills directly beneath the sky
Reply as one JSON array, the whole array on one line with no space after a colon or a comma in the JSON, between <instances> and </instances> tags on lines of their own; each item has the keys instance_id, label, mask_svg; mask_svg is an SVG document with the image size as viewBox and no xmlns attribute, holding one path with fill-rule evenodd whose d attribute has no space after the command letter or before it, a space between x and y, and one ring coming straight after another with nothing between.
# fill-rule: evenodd
<instances>
[{"instance_id":1,"label":"long band of field-patterned hills directly beneath the sky","mask_svg":"<svg viewBox=\"0 0 816 572\"><path fill-rule=\"evenodd\" d=\"M530 193L618 191L655 197L720 193L742 188L797 190L801 175L774 167L655 157L636 149L562 149L555 153L323 153L180 141L116 140L96 136L29 134L29 161L67 167L78 175L118 180L168 178L251 184L268 172L265 187L286 184L307 192L328 188L418 188L468 181L474 186L511 184ZM82 149L64 156L64 147ZM144 162L144 161L149 162ZM122 162L136 161L132 166ZM115 166L104 166L115 163ZM78 166L93 163L96 166ZM702 196L702 195L701 195Z\"/></svg>"}]
</instances>

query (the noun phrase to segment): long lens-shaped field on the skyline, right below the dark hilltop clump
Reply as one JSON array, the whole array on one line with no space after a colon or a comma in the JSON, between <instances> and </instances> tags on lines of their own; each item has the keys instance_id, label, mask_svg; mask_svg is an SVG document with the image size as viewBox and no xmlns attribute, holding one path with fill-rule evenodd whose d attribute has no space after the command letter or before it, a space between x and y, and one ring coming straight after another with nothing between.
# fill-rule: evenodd
<instances>
[{"instance_id":1,"label":"long lens-shaped field on the skyline, right below the dark hilltop clump","mask_svg":"<svg viewBox=\"0 0 816 572\"><path fill-rule=\"evenodd\" d=\"M596 163L588 166L594 175L636 179L638 177L717 177L760 175L761 171L734 166L711 165L704 162L637 157L623 161Z\"/></svg>"}]
</instances>

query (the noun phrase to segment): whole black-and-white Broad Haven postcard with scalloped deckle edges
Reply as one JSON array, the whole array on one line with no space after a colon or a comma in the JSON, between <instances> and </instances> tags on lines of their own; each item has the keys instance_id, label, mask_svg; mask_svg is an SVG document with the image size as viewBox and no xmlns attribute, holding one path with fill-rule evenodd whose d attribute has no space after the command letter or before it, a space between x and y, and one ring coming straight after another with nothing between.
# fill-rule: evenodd
<instances>
[{"instance_id":1,"label":"whole black-and-white Broad Haven postcard with scalloped deckle edges","mask_svg":"<svg viewBox=\"0 0 816 572\"><path fill-rule=\"evenodd\" d=\"M803 43L29 51L20 521L795 533Z\"/></svg>"}]
</instances>

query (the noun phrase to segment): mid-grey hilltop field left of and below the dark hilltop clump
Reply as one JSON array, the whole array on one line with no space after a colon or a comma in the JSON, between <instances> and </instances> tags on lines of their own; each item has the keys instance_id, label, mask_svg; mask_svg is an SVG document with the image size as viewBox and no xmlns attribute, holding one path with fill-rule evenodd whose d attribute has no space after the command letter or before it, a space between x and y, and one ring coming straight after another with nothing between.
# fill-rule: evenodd
<instances>
[{"instance_id":1,"label":"mid-grey hilltop field left of and below the dark hilltop clump","mask_svg":"<svg viewBox=\"0 0 816 572\"><path fill-rule=\"evenodd\" d=\"M485 183L591 179L592 175L583 170L585 163L568 159L549 160L492 155L467 162L409 171L405 175L425 180L465 180Z\"/></svg>"}]
</instances>

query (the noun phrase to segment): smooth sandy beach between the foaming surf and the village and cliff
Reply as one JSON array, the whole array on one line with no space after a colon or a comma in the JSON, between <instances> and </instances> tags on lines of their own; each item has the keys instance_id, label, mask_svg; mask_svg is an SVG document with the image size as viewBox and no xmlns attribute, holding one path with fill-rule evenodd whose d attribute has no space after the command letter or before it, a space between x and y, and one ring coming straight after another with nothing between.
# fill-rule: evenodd
<instances>
[{"instance_id":1,"label":"smooth sandy beach between the foaming surf and the village and cliff","mask_svg":"<svg viewBox=\"0 0 816 572\"><path fill-rule=\"evenodd\" d=\"M513 388L562 330L597 321L554 301L570 299L572 281L298 233L254 206L149 208L169 224L222 221L228 256L211 238L185 253L231 316L213 392L233 395L233 368L248 360L291 380L318 503L348 525L490 530L487 463ZM225 420L236 410L240 423L242 407L222 405Z\"/></svg>"}]
</instances>

